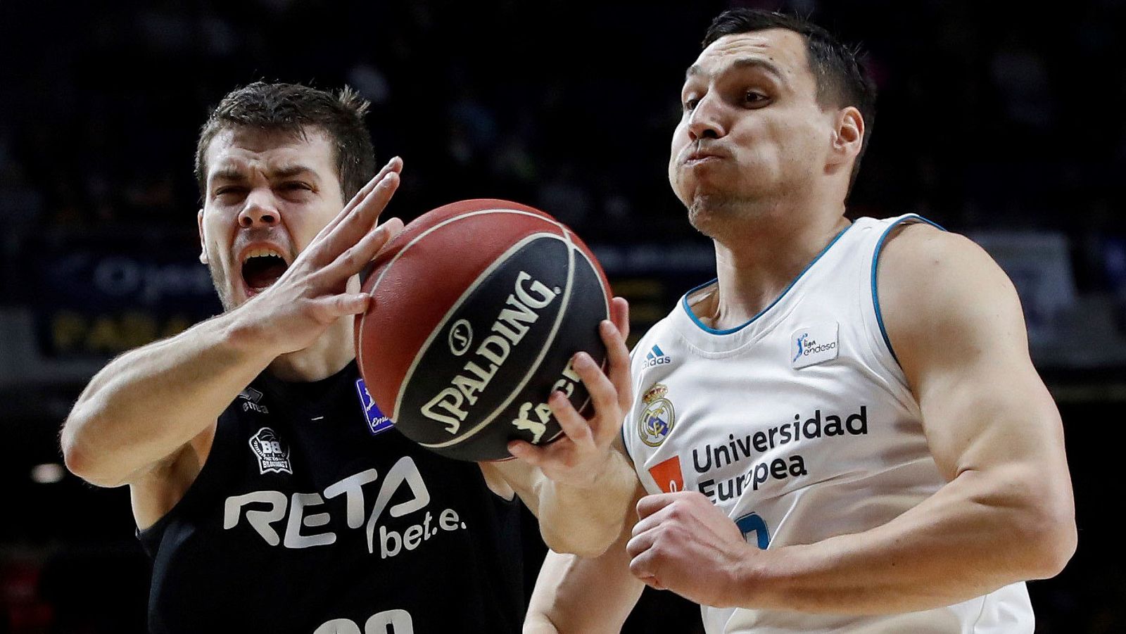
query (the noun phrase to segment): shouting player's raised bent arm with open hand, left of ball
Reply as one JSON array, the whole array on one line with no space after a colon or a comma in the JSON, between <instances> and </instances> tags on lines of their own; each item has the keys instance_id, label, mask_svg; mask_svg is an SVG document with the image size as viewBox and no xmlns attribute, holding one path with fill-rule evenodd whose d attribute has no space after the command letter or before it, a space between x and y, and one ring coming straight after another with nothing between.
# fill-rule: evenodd
<instances>
[{"instance_id":1,"label":"shouting player's raised bent arm with open hand, left of ball","mask_svg":"<svg viewBox=\"0 0 1126 634\"><path fill-rule=\"evenodd\" d=\"M79 396L62 429L66 466L118 486L153 470L194 480L223 409L279 355L304 349L336 320L363 312L356 275L402 223L373 231L399 184L393 159L268 289L187 331L117 357Z\"/></svg>"}]
</instances>

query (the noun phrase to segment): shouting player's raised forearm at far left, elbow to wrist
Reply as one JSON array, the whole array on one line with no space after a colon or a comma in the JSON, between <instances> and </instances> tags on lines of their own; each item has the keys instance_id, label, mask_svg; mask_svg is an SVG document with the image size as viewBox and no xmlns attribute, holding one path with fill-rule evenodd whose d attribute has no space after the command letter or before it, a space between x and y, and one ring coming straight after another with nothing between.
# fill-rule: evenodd
<instances>
[{"instance_id":1,"label":"shouting player's raised forearm at far left, elbow to wrist","mask_svg":"<svg viewBox=\"0 0 1126 634\"><path fill-rule=\"evenodd\" d=\"M68 467L101 486L128 482L213 423L272 357L236 312L122 355L66 419Z\"/></svg>"}]
</instances>

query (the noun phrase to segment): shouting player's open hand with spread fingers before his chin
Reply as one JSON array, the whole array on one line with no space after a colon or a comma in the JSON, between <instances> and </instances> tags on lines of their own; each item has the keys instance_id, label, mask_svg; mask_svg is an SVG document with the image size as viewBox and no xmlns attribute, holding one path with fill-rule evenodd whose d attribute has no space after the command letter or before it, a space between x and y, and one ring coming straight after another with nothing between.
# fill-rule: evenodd
<instances>
[{"instance_id":1,"label":"shouting player's open hand with spread fingers before his chin","mask_svg":"<svg viewBox=\"0 0 1126 634\"><path fill-rule=\"evenodd\" d=\"M238 309L274 356L302 350L341 316L367 310L370 296L354 276L403 227L399 218L376 227L402 169L402 160L392 159L277 282Z\"/></svg>"}]
</instances>

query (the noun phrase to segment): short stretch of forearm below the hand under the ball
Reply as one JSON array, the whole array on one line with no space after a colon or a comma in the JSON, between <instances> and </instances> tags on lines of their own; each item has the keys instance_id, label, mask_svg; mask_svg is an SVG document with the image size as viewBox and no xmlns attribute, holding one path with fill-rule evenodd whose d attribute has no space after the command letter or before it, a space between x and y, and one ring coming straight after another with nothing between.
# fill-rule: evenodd
<instances>
[{"instance_id":1,"label":"short stretch of forearm below the hand under the ball","mask_svg":"<svg viewBox=\"0 0 1126 634\"><path fill-rule=\"evenodd\" d=\"M636 499L637 476L622 454L611 452L590 486L544 477L537 488L537 518L544 542L554 551L593 557L618 537Z\"/></svg>"}]
</instances>

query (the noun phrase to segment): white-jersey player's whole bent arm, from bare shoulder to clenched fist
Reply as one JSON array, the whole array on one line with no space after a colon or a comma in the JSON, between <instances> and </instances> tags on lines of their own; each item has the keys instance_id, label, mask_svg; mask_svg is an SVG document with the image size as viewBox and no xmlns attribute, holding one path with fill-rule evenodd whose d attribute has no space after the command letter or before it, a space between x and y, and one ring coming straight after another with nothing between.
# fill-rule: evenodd
<instances>
[{"instance_id":1,"label":"white-jersey player's whole bent arm, from bare shoulder to clenched fist","mask_svg":"<svg viewBox=\"0 0 1126 634\"><path fill-rule=\"evenodd\" d=\"M627 546L636 577L720 607L885 614L1063 569L1076 539L1063 429L1012 284L965 238L911 225L878 291L947 484L874 529L767 551L698 493L651 495Z\"/></svg>"}]
</instances>

